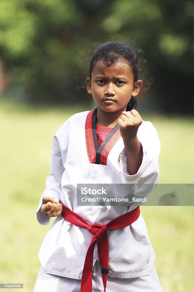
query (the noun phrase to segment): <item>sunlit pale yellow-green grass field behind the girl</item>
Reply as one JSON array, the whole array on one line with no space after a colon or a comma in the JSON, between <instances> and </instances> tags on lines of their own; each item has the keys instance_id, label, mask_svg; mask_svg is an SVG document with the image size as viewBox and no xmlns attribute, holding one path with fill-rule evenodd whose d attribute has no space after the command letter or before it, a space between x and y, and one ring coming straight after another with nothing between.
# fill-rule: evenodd
<instances>
[{"instance_id":1,"label":"sunlit pale yellow-green grass field behind the girl","mask_svg":"<svg viewBox=\"0 0 194 292\"><path fill-rule=\"evenodd\" d=\"M49 229L38 224L36 208L49 173L51 139L69 116L82 110L87 109L0 101L0 283L23 283L23 292L33 291L38 251ZM152 121L161 139L160 183L194 183L194 119L142 116ZM194 207L141 207L141 213L164 291L194 291Z\"/></svg>"}]
</instances>

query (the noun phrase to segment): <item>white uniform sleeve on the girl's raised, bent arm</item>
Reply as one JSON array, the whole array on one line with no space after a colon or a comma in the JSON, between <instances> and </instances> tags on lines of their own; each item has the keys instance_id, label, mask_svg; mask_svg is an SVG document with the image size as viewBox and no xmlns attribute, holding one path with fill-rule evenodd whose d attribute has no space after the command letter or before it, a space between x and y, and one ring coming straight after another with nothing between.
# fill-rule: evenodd
<instances>
[{"instance_id":1,"label":"white uniform sleeve on the girl's raised, bent arm","mask_svg":"<svg viewBox=\"0 0 194 292\"><path fill-rule=\"evenodd\" d=\"M160 140L156 129L148 121L144 122L137 136L143 148L142 163L136 174L129 175L127 156L123 149L120 159L121 181L128 184L127 191L131 194L146 196L156 187L159 180Z\"/></svg>"}]
</instances>

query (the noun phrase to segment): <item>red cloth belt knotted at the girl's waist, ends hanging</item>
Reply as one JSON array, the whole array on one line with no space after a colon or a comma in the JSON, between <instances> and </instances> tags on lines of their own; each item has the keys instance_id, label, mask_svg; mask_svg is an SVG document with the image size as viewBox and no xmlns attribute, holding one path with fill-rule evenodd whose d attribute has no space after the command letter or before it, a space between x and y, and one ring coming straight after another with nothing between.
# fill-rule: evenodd
<instances>
[{"instance_id":1,"label":"red cloth belt knotted at the girl's waist, ends hanging","mask_svg":"<svg viewBox=\"0 0 194 292\"><path fill-rule=\"evenodd\" d=\"M102 268L101 272L104 284L104 292L106 292L106 282L108 277L108 234L106 230L124 228L135 222L140 214L139 206L131 212L125 213L111 220L106 225L89 225L88 222L80 215L68 209L61 201L60 203L63 205L63 212L61 215L67 221L78 227L86 228L93 235L90 246L88 247L88 251L86 253L85 263L83 266L81 278L81 292L92 292L93 253L96 243L98 248L99 262Z\"/></svg>"}]
</instances>

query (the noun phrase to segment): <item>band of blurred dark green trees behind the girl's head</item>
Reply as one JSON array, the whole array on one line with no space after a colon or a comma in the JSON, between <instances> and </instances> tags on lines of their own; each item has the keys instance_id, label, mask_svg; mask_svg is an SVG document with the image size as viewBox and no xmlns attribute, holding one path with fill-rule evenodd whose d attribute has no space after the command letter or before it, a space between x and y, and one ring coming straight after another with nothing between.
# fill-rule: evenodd
<instances>
[{"instance_id":1,"label":"band of blurred dark green trees behind the girl's head","mask_svg":"<svg viewBox=\"0 0 194 292\"><path fill-rule=\"evenodd\" d=\"M0 56L31 100L73 101L77 53L121 34L145 51L160 108L192 113L193 16L189 0L1 0Z\"/></svg>"}]
</instances>

